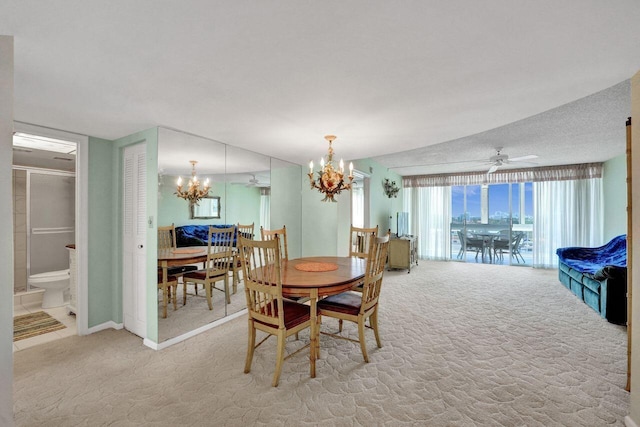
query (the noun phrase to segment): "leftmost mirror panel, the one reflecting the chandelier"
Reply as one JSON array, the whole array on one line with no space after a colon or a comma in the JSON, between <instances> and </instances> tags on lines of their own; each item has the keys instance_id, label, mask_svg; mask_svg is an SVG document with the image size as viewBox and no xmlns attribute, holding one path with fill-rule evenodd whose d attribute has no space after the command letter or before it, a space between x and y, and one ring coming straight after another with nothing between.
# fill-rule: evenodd
<instances>
[{"instance_id":1,"label":"leftmost mirror panel, the one reflecting the chandelier","mask_svg":"<svg viewBox=\"0 0 640 427\"><path fill-rule=\"evenodd\" d=\"M191 160L196 160L196 174L200 182L209 178L211 189L209 196L220 202L218 218L191 218L191 208L187 200L175 195L176 181L179 176L183 182L191 177ZM206 251L206 233L208 227L202 227L204 236L187 233L184 226L222 225L226 224L225 216L225 169L226 146L210 139L178 132L170 129L158 129L158 226L174 224L176 227L178 247L202 244ZM183 184L183 188L186 184ZM198 239L201 237L202 239ZM201 243L200 243L201 242ZM202 264L196 265L202 268ZM217 287L223 289L222 282ZM167 308L167 317L162 318L162 294L158 292L158 342L187 333L226 315L224 292L214 290L212 293L213 310L209 310L205 291L198 286L197 294L193 285L187 289L186 304L183 304L184 287L178 285L177 310L173 305Z\"/></svg>"}]
</instances>

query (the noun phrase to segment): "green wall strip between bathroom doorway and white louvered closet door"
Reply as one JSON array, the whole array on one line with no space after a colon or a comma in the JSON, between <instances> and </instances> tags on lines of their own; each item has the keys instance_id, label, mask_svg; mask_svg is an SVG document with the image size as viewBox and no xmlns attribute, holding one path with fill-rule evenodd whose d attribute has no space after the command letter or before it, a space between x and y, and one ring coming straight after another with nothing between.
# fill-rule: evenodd
<instances>
[{"instance_id":1,"label":"green wall strip between bathroom doorway and white louvered closet door","mask_svg":"<svg viewBox=\"0 0 640 427\"><path fill-rule=\"evenodd\" d=\"M114 264L113 210L115 168L109 161L113 142L89 137L88 217L88 326L121 321L114 307L116 275Z\"/></svg>"}]
</instances>

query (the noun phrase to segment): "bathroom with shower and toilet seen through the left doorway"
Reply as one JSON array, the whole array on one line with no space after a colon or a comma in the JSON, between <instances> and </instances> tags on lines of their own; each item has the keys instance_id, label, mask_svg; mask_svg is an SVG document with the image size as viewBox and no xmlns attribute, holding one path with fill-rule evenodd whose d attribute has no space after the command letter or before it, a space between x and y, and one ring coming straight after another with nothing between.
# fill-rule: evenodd
<instances>
[{"instance_id":1,"label":"bathroom with shower and toilet seen through the left doorway","mask_svg":"<svg viewBox=\"0 0 640 427\"><path fill-rule=\"evenodd\" d=\"M57 330L33 332L22 339L14 333L14 352L77 334L70 286L76 238L75 170L75 142L14 135L14 321L45 312L59 322Z\"/></svg>"}]
</instances>

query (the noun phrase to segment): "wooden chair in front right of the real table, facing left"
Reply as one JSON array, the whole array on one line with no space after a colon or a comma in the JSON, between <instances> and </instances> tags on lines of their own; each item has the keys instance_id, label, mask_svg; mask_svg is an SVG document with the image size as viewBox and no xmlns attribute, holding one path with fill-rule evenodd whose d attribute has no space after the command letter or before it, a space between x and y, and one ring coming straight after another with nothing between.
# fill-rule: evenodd
<instances>
[{"instance_id":1,"label":"wooden chair in front right of the real table, facing left","mask_svg":"<svg viewBox=\"0 0 640 427\"><path fill-rule=\"evenodd\" d=\"M370 328L376 337L378 348L382 347L380 334L378 332L378 300L382 287L382 277L387 261L389 250L389 234L383 237L376 237L369 242L367 264L365 267L364 284L362 292L343 292L332 295L318 302L318 323L322 323L322 316L333 317L339 320L339 332L342 332L342 321L348 320L358 325L358 341L362 350L362 357L365 362L369 362L367 346L365 344L364 332L365 321L369 319ZM350 338L337 334L323 332L323 335L330 335L349 341Z\"/></svg>"}]
</instances>

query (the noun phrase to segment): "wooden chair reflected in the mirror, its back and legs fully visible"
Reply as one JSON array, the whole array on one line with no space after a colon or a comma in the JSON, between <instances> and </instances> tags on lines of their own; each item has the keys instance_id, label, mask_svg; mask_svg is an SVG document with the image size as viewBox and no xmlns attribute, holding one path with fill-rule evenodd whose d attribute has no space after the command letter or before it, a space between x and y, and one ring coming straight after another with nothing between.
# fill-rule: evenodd
<instances>
[{"instance_id":1,"label":"wooden chair reflected in the mirror, its back and legs fully visible","mask_svg":"<svg viewBox=\"0 0 640 427\"><path fill-rule=\"evenodd\" d=\"M203 270L192 271L183 276L183 304L187 302L187 284L204 286L209 310L213 310L211 301L213 290L224 292L227 304L231 304L229 294L229 271L233 264L233 234L235 226L228 228L209 227L209 240L207 243L207 261ZM224 282L224 288L215 286L217 282Z\"/></svg>"}]
</instances>

